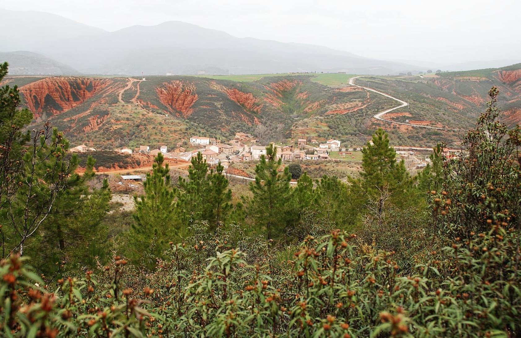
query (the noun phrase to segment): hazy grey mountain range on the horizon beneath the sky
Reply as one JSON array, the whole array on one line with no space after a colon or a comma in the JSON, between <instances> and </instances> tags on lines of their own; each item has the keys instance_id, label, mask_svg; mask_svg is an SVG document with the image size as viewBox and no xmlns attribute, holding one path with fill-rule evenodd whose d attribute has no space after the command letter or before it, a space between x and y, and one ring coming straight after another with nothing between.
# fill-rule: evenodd
<instances>
[{"instance_id":1,"label":"hazy grey mountain range on the horizon beneath the sky","mask_svg":"<svg viewBox=\"0 0 521 338\"><path fill-rule=\"evenodd\" d=\"M13 66L11 74L80 72L135 76L345 71L383 75L438 66L421 61L370 59L316 45L238 38L181 21L108 32L46 12L0 9L0 29L9 31L13 27L17 28L16 34L5 36L0 46L1 52L11 52L3 55ZM511 64L515 60L505 61ZM479 62L474 62L440 68L479 66Z\"/></svg>"}]
</instances>

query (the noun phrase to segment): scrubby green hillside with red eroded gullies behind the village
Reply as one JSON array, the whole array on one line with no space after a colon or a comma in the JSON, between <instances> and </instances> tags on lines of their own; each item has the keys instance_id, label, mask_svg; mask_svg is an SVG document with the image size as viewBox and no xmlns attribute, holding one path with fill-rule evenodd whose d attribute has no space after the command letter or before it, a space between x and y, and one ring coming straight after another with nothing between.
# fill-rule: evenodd
<instances>
[{"instance_id":1,"label":"scrubby green hillside with red eroded gullies behind the village","mask_svg":"<svg viewBox=\"0 0 521 338\"><path fill-rule=\"evenodd\" d=\"M409 107L387 119L373 118L396 102L349 86L348 74L278 76L10 77L35 116L66 132L72 144L101 149L166 144L172 147L193 134L228 139L235 132L265 140L297 137L338 138L361 146L378 127L393 144L432 146L460 140L483 110L492 85L501 91L500 107L508 123L521 116L521 65L500 69L432 74L431 77L362 77L359 85L399 97ZM31 127L32 128L32 127Z\"/></svg>"}]
</instances>

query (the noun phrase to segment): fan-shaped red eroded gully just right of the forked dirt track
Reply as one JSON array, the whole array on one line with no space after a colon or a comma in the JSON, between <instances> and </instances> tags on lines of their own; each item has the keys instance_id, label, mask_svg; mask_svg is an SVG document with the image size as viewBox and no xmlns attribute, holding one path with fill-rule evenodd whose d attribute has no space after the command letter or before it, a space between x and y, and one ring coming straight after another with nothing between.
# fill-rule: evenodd
<instances>
[{"instance_id":1,"label":"fan-shaped red eroded gully just right of the forked dirt track","mask_svg":"<svg viewBox=\"0 0 521 338\"><path fill-rule=\"evenodd\" d=\"M195 85L179 80L163 83L163 86L156 88L159 100L169 110L176 113L178 117L189 117L193 113L193 104L197 101ZM179 114L181 112L181 114Z\"/></svg>"}]
</instances>

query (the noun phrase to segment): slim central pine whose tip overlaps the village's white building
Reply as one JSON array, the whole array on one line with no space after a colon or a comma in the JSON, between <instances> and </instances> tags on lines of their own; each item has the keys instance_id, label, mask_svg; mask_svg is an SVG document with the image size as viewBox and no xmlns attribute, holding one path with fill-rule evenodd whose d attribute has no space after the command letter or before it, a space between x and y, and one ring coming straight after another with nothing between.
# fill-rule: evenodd
<instances>
[{"instance_id":1,"label":"slim central pine whose tip overlaps the village's white building","mask_svg":"<svg viewBox=\"0 0 521 338\"><path fill-rule=\"evenodd\" d=\"M282 160L276 158L277 150L270 144L255 167L255 182L250 183L250 211L256 224L265 229L268 240L284 234L291 197L291 174L287 167L279 173Z\"/></svg>"}]
</instances>

